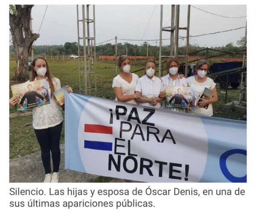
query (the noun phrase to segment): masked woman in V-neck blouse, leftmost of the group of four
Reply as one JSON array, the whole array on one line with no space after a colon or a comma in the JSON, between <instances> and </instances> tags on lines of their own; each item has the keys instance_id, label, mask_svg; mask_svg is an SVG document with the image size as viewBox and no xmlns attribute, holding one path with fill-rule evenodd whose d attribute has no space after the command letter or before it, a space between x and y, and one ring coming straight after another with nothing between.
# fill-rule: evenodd
<instances>
[{"instance_id":1,"label":"masked woman in V-neck blouse, leftmost of the group of four","mask_svg":"<svg viewBox=\"0 0 256 212\"><path fill-rule=\"evenodd\" d=\"M140 98L140 95L135 94L139 77L137 74L130 73L130 58L127 55L120 56L118 66L121 73L113 78L112 84L115 90L116 101L137 105L134 99Z\"/></svg>"}]
</instances>

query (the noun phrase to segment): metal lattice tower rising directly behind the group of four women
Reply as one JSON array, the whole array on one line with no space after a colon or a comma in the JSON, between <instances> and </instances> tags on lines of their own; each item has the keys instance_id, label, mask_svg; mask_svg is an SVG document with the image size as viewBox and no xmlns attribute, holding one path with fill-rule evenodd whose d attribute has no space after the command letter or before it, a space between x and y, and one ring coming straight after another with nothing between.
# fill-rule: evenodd
<instances>
[{"instance_id":1,"label":"metal lattice tower rising directly behind the group of four women","mask_svg":"<svg viewBox=\"0 0 256 212\"><path fill-rule=\"evenodd\" d=\"M172 5L171 11L171 26L163 27L163 5L161 5L161 13L160 13L160 41L159 41L159 77L162 76L162 67L161 67L161 59L167 57L185 57L186 58L186 68L185 68L185 76L188 74L188 59L189 59L189 22L190 22L190 5L188 5L187 11L187 26L180 27L180 5ZM179 44L179 30L186 30L186 55L178 55L178 44ZM170 55L163 56L161 53L162 50L162 32L167 31L171 32L171 41L170 41Z\"/></svg>"}]
</instances>

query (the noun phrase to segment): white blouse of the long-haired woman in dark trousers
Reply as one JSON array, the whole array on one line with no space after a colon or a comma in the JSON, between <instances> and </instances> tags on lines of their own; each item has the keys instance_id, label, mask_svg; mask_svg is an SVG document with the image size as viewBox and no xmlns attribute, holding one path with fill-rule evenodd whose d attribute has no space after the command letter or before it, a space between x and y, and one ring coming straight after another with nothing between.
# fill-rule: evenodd
<instances>
[{"instance_id":1,"label":"white blouse of the long-haired woman in dark trousers","mask_svg":"<svg viewBox=\"0 0 256 212\"><path fill-rule=\"evenodd\" d=\"M48 85L49 96L51 96L51 89L47 78L46 81ZM61 89L61 81L58 78L52 78L52 83L55 91ZM56 102L53 95L49 104L33 107L32 115L33 127L37 130L54 127L60 124L63 120L61 114L61 106Z\"/></svg>"}]
</instances>

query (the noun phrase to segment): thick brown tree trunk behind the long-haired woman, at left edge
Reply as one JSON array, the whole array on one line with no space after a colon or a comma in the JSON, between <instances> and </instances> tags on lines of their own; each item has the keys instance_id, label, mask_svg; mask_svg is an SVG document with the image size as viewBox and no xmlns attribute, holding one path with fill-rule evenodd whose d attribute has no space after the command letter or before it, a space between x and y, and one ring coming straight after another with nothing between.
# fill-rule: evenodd
<instances>
[{"instance_id":1,"label":"thick brown tree trunk behind the long-haired woman, at left edge","mask_svg":"<svg viewBox=\"0 0 256 212\"><path fill-rule=\"evenodd\" d=\"M25 82L29 79L29 49L39 34L32 33L30 28L31 9L34 5L11 5L9 8L9 24L12 43L15 49L17 68L13 80Z\"/></svg>"}]
</instances>

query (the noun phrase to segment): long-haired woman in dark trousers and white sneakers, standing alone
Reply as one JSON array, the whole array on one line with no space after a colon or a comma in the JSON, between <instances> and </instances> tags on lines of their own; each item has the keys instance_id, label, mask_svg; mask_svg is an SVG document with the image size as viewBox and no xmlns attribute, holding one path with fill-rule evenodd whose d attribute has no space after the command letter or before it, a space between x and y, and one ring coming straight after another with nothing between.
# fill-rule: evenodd
<instances>
[{"instance_id":1,"label":"long-haired woman in dark trousers and white sneakers, standing alone","mask_svg":"<svg viewBox=\"0 0 256 212\"><path fill-rule=\"evenodd\" d=\"M50 75L49 66L43 57L35 57L32 62L32 76L30 81L46 79L50 103L39 107L33 107L33 127L41 148L41 158L45 171L44 183L58 183L61 151L59 147L63 117L61 106L54 99L53 93L61 88L58 78ZM67 87L67 92L73 92ZM19 98L10 99L12 106L19 103ZM50 152L52 153L53 173L51 174Z\"/></svg>"}]
</instances>

